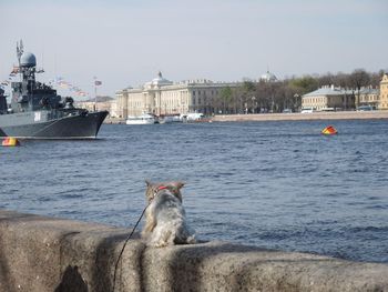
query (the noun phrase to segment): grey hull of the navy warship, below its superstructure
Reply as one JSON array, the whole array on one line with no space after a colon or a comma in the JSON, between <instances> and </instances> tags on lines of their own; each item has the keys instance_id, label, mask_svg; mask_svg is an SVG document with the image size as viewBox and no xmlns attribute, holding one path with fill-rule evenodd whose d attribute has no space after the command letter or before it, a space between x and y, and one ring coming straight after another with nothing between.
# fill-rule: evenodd
<instances>
[{"instance_id":1,"label":"grey hull of the navy warship, below its superstructure","mask_svg":"<svg viewBox=\"0 0 388 292\"><path fill-rule=\"evenodd\" d=\"M0 117L0 137L19 139L94 139L108 111L89 112L47 121L34 121L25 114L12 123L13 114ZM19 114L20 115L20 114ZM32 120L31 120L32 119ZM20 120L24 122L20 122ZM31 120L31 121L30 121Z\"/></svg>"}]
</instances>

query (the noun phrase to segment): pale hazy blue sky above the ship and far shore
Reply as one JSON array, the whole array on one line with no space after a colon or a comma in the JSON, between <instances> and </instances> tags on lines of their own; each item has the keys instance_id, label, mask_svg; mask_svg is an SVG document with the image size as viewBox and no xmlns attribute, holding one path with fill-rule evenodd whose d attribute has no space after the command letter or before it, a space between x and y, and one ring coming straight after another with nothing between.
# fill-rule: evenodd
<instances>
[{"instance_id":1,"label":"pale hazy blue sky above the ship and far shore","mask_svg":"<svg viewBox=\"0 0 388 292\"><path fill-rule=\"evenodd\" d=\"M388 69L388 1L0 0L1 80L20 39L41 80L92 93L96 75L110 95L159 70L172 81L378 71Z\"/></svg>"}]
</instances>

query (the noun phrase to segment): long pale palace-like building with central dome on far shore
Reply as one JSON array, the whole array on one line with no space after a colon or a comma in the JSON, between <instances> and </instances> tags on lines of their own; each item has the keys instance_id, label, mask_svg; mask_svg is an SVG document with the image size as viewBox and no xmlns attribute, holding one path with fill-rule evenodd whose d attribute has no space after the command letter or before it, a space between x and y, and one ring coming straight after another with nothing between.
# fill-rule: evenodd
<instances>
[{"instance_id":1,"label":"long pale palace-like building with central dome on far shore","mask_svg":"<svg viewBox=\"0 0 388 292\"><path fill-rule=\"evenodd\" d=\"M213 82L206 79L174 83L159 72L157 77L140 88L126 88L116 92L120 118L140 115L144 112L156 115L215 113L214 103L224 88L235 88L238 83Z\"/></svg>"}]
</instances>

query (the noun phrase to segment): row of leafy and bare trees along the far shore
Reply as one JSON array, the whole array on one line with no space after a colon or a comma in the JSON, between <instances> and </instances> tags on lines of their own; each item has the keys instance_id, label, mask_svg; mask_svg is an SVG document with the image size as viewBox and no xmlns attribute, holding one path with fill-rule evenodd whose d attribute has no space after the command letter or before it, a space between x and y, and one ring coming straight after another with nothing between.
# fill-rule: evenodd
<instances>
[{"instance_id":1,"label":"row of leafy and bare trees along the far shore","mask_svg":"<svg viewBox=\"0 0 388 292\"><path fill-rule=\"evenodd\" d=\"M282 81L255 82L243 80L235 87L222 89L221 94L213 100L216 113L262 113L282 112L285 109L300 110L302 97L323 85L335 85L353 90L355 97L360 94L364 87L379 88L384 71L367 72L356 69L351 73L330 72L323 75L292 77Z\"/></svg>"}]
</instances>

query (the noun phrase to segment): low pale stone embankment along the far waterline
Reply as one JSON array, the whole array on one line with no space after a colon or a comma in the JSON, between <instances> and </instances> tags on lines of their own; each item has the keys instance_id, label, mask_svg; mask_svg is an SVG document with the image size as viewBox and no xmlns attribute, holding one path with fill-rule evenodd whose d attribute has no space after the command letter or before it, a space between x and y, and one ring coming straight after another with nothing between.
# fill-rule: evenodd
<instances>
[{"instance_id":1,"label":"low pale stone embankment along the far waterline","mask_svg":"<svg viewBox=\"0 0 388 292\"><path fill-rule=\"evenodd\" d=\"M388 111L337 111L313 113L256 113L256 114L217 114L212 117L214 122L244 121L308 121L308 120L370 120L388 119ZM208 121L206 119L206 121ZM104 123L125 123L124 119L105 119Z\"/></svg>"}]
</instances>

